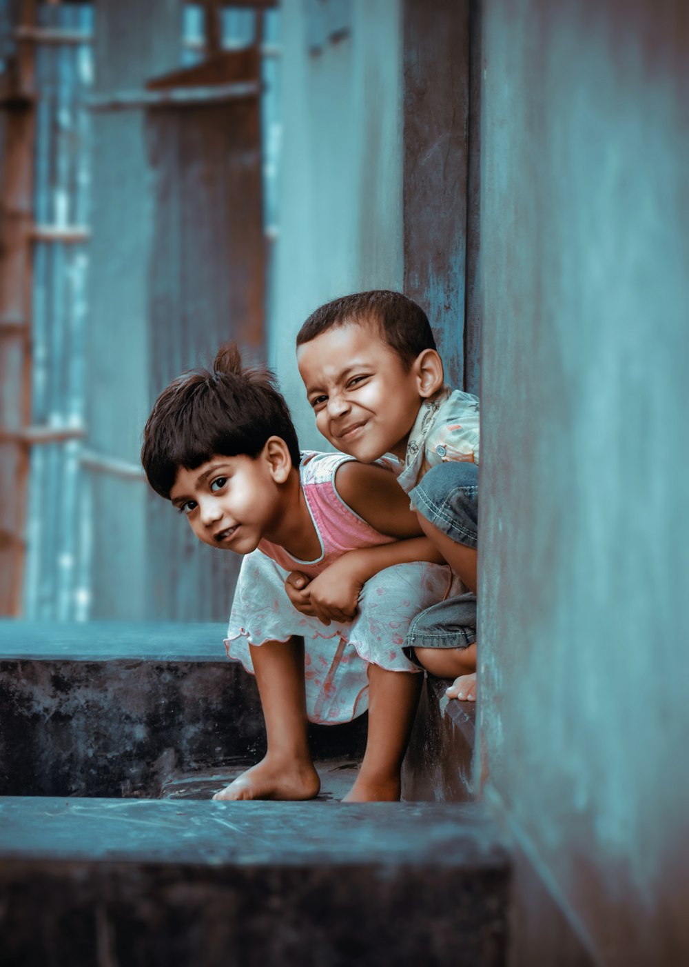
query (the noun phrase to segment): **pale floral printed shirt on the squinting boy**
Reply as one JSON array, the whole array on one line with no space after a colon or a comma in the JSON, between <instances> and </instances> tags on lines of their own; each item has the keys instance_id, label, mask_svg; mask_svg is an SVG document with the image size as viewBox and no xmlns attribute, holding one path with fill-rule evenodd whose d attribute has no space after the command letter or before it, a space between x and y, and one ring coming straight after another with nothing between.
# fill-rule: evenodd
<instances>
[{"instance_id":1,"label":"pale floral printed shirt on the squinting boy","mask_svg":"<svg viewBox=\"0 0 689 967\"><path fill-rule=\"evenodd\" d=\"M409 493L431 467L447 460L478 463L478 397L444 386L421 403L397 482Z\"/></svg>"}]
</instances>

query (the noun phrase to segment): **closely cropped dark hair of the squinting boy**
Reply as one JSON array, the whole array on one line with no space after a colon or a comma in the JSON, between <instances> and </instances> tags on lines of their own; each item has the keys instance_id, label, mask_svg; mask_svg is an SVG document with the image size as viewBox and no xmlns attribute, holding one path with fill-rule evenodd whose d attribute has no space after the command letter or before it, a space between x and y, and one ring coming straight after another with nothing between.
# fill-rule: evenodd
<instances>
[{"instance_id":1,"label":"closely cropped dark hair of the squinting boy","mask_svg":"<svg viewBox=\"0 0 689 967\"><path fill-rule=\"evenodd\" d=\"M373 289L334 299L309 315L297 335L297 345L310 342L335 326L375 322L380 334L409 369L424 349L437 349L423 309L401 292Z\"/></svg>"}]
</instances>

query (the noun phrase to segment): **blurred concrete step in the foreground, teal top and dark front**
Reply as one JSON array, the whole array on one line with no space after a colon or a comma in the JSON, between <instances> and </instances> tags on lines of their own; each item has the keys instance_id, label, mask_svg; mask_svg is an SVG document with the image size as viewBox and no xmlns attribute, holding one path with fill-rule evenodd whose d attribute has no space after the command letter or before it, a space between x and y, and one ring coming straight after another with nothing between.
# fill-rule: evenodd
<instances>
[{"instance_id":1,"label":"blurred concrete step in the foreground, teal top and dark front","mask_svg":"<svg viewBox=\"0 0 689 967\"><path fill-rule=\"evenodd\" d=\"M0 831L5 967L505 963L474 806L15 799Z\"/></svg>"}]
</instances>

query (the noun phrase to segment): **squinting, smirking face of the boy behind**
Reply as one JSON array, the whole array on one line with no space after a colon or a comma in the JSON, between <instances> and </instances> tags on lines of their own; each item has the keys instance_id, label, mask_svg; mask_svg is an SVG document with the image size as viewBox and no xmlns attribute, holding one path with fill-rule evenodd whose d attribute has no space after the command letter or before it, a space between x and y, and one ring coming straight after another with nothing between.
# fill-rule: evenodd
<instances>
[{"instance_id":1,"label":"squinting, smirking face of the boy behind","mask_svg":"<svg viewBox=\"0 0 689 967\"><path fill-rule=\"evenodd\" d=\"M404 459L421 396L375 323L335 326L299 346L297 362L316 425L333 447L371 463Z\"/></svg>"}]
</instances>

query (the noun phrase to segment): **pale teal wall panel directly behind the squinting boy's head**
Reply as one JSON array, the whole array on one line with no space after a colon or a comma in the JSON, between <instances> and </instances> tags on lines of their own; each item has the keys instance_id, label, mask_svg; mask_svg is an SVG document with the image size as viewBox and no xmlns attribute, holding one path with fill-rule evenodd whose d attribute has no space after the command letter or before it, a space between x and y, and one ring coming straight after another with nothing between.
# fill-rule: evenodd
<instances>
[{"instance_id":1,"label":"pale teal wall panel directly behind the squinting boy's head","mask_svg":"<svg viewBox=\"0 0 689 967\"><path fill-rule=\"evenodd\" d=\"M397 0L354 0L347 35L310 50L313 7L296 0L282 8L269 358L301 446L323 450L294 342L322 303L368 288L402 288L402 38Z\"/></svg>"}]
</instances>

